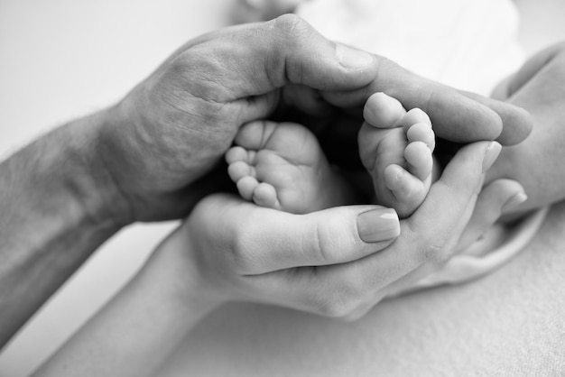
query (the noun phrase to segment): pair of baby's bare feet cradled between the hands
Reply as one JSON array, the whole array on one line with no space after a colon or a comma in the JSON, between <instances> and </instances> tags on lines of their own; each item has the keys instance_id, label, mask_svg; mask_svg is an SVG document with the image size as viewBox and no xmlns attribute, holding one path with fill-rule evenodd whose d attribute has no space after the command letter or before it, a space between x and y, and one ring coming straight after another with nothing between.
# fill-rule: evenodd
<instances>
[{"instance_id":1,"label":"pair of baby's bare feet cradled between the hands","mask_svg":"<svg viewBox=\"0 0 565 377\"><path fill-rule=\"evenodd\" d=\"M432 183L430 117L420 109L406 112L396 99L376 93L366 102L364 118L358 143L375 203L411 216ZM251 122L237 133L235 144L226 153L228 173L246 200L297 214L358 203L357 191L301 124Z\"/></svg>"}]
</instances>

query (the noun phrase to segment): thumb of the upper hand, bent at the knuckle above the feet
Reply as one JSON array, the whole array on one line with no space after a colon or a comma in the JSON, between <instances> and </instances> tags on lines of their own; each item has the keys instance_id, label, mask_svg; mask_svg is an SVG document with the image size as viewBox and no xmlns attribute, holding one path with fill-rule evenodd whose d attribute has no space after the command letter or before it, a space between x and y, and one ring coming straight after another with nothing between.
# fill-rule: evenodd
<instances>
[{"instance_id":1,"label":"thumb of the upper hand, bent at the knuckle above the feet","mask_svg":"<svg viewBox=\"0 0 565 377\"><path fill-rule=\"evenodd\" d=\"M235 94L221 100L259 96L286 84L353 89L371 82L377 69L372 54L329 41L293 14L228 29L192 49L206 50L213 69L207 77L216 79L210 75L221 63L219 84Z\"/></svg>"}]
</instances>

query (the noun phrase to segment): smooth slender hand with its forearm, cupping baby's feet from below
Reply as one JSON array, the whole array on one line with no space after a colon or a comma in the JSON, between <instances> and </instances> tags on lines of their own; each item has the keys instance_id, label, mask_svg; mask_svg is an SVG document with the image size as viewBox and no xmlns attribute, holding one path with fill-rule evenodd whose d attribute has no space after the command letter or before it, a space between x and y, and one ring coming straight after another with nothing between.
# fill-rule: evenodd
<instances>
[{"instance_id":1,"label":"smooth slender hand with its forearm, cupping baby's feet from below","mask_svg":"<svg viewBox=\"0 0 565 377\"><path fill-rule=\"evenodd\" d=\"M366 243L358 234L357 214L375 206L293 215L236 196L209 196L35 375L158 375L199 320L228 301L362 317L387 292L449 258L497 153L487 142L463 148L401 222L401 235L382 242ZM489 208L500 213L514 192L496 192L498 206Z\"/></svg>"}]
</instances>

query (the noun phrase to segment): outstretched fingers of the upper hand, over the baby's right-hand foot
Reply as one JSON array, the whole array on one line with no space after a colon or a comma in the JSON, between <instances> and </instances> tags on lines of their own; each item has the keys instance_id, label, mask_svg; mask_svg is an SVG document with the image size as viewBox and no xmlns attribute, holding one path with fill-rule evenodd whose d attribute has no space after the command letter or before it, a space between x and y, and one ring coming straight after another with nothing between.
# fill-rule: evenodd
<instances>
[{"instance_id":1,"label":"outstretched fingers of the upper hand, over the baby's right-hand foot","mask_svg":"<svg viewBox=\"0 0 565 377\"><path fill-rule=\"evenodd\" d=\"M384 57L375 56L375 60L379 69L370 85L324 92L324 97L335 106L359 106L372 94L383 92L406 109L421 108L430 115L437 135L456 143L497 140L515 144L532 131L532 120L520 107L421 78Z\"/></svg>"}]
</instances>

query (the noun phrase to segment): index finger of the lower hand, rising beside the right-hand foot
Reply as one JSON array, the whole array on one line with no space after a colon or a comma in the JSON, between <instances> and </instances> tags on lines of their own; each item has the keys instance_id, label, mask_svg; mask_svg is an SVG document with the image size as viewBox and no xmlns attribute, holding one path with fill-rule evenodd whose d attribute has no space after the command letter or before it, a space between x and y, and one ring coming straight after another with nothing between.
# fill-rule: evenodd
<instances>
[{"instance_id":1,"label":"index finger of the lower hand, rising beside the right-hand foot","mask_svg":"<svg viewBox=\"0 0 565 377\"><path fill-rule=\"evenodd\" d=\"M321 270L353 269L357 276L381 289L428 261L442 261L449 255L452 239L458 240L471 216L484 170L496 160L500 144L480 142L463 147L449 162L440 180L416 212L401 222L401 236L391 247L365 260ZM346 273L347 272L343 272Z\"/></svg>"}]
</instances>

